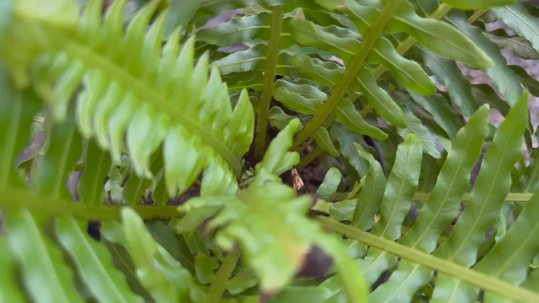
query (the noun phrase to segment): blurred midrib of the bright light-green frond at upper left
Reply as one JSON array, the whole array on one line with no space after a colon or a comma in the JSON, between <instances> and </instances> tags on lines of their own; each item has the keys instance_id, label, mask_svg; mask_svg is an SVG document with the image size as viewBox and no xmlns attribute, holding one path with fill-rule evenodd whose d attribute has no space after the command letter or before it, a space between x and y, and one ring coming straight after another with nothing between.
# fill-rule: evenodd
<instances>
[{"instance_id":1,"label":"blurred midrib of the bright light-green frond at upper left","mask_svg":"<svg viewBox=\"0 0 539 303\"><path fill-rule=\"evenodd\" d=\"M159 108L161 112L167 113L172 121L181 123L186 129L201 137L208 145L216 150L225 160L232 166L234 171L241 170L240 161L234 156L234 153L223 144L222 140L213 136L206 128L199 124L196 119L189 113L179 109L173 102L169 102L161 96L157 91L153 90L143 81L130 75L125 69L118 67L114 62L110 61L98 53L95 53L90 48L80 45L75 41L69 41L63 48L70 56L78 58L86 62L89 66L98 68L105 74L113 77L123 87L129 88L139 95L142 100L151 100L152 104Z\"/></svg>"}]
</instances>

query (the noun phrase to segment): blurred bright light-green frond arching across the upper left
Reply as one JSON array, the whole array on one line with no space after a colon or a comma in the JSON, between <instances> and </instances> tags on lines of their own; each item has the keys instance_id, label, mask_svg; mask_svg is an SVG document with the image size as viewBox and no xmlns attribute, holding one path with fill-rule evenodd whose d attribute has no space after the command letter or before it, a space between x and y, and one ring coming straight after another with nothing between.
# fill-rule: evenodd
<instances>
[{"instance_id":1,"label":"blurred bright light-green frond arching across the upper left","mask_svg":"<svg viewBox=\"0 0 539 303\"><path fill-rule=\"evenodd\" d=\"M80 132L95 137L115 163L125 138L139 175L153 177L150 158L163 144L171 195L183 193L202 170L203 195L235 192L239 159L253 137L246 91L232 110L218 69L208 72L208 54L194 64L195 38L180 49L181 29L162 46L167 11L148 25L158 1L137 12L124 32L127 2L115 1L102 18L102 0L91 0L80 22L78 10L67 4L40 4L29 16L24 7L33 1L16 2L1 49L10 72L20 86L32 78L58 121L82 84L74 104Z\"/></svg>"}]
</instances>

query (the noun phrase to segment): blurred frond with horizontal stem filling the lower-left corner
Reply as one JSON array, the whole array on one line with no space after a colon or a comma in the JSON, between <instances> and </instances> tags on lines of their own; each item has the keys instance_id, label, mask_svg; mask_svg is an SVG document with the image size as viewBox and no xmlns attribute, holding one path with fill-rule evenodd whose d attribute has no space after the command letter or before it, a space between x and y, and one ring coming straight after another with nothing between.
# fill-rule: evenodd
<instances>
[{"instance_id":1,"label":"blurred frond with horizontal stem filling the lower-left corner","mask_svg":"<svg viewBox=\"0 0 539 303\"><path fill-rule=\"evenodd\" d=\"M110 159L109 165L103 161L104 172L99 170L102 163L90 161L95 167L88 167L79 182L82 202L72 202L66 181L82 152L73 110L65 122L47 127L49 145L34 165L31 188L25 186L15 170L16 157L31 138L31 121L40 102L31 89L13 89L5 73L0 80L0 124L5 130L0 148L0 205L7 210L2 213L0 301L144 302L153 298L177 302L189 298L191 274L151 238L139 215L131 209L120 213L119 208L96 205ZM87 219L106 217L121 218L123 226L114 229L118 238L110 241L125 246L125 260L133 258L128 270L136 272L136 277L126 277L129 271L114 266L117 251L109 251L105 242L88 235Z\"/></svg>"}]
</instances>

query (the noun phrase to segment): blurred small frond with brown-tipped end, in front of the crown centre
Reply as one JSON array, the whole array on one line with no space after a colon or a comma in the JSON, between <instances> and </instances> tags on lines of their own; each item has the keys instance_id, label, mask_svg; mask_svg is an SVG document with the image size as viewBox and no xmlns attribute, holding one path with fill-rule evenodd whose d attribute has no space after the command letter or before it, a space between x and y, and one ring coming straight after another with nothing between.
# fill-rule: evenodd
<instances>
[{"instance_id":1,"label":"blurred small frond with brown-tipped end, in front of the crown centre","mask_svg":"<svg viewBox=\"0 0 539 303\"><path fill-rule=\"evenodd\" d=\"M287 285L316 245L335 258L350 301L360 302L366 289L347 253L304 216L311 198L296 197L294 190L281 184L275 175L299 161L296 152L287 151L298 122L294 119L272 140L256 167L257 177L247 189L236 196L191 198L178 209L188 214L203 209L210 210L209 216L217 213L208 229L222 227L216 233L216 242L223 248L232 250L234 243L239 245L246 262L260 277L262 290L273 293Z\"/></svg>"}]
</instances>

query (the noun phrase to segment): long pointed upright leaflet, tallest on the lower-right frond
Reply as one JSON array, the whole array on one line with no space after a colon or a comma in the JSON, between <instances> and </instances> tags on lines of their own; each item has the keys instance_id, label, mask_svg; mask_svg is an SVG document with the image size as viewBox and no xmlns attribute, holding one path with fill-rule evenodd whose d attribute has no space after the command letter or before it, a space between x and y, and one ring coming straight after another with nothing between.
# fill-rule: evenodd
<instances>
[{"instance_id":1,"label":"long pointed upright leaflet, tallest on the lower-right frond","mask_svg":"<svg viewBox=\"0 0 539 303\"><path fill-rule=\"evenodd\" d=\"M494 142L485 154L484 168L478 175L472 200L455 224L450 239L437 249L435 255L465 266L475 263L475 253L483 235L495 222L503 198L509 191L510 175L506 172L522 156L522 133L527 126L527 116L528 94L524 93L496 131ZM438 295L437 288L444 291L453 287L459 287L458 283L438 277L433 295Z\"/></svg>"}]
</instances>

